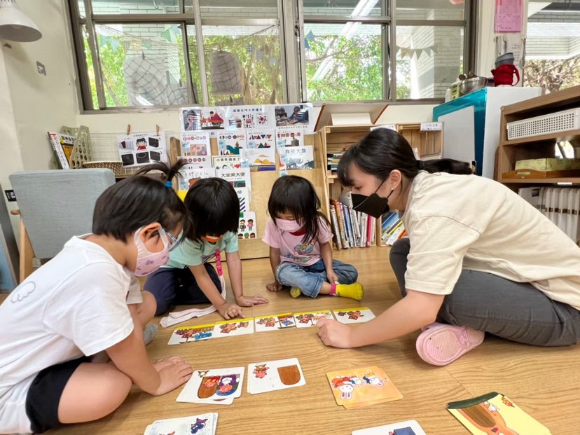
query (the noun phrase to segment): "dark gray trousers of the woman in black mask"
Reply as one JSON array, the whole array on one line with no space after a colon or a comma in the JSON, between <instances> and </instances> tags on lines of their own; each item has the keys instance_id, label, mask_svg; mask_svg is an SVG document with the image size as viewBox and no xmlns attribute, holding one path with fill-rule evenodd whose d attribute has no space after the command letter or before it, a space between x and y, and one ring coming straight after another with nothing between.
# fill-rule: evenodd
<instances>
[{"instance_id":1,"label":"dark gray trousers of the woman in black mask","mask_svg":"<svg viewBox=\"0 0 580 435\"><path fill-rule=\"evenodd\" d=\"M390 254L403 296L409 249L405 237L393 245ZM580 340L579 310L553 301L531 284L475 270L462 270L453 292L443 300L437 322L528 345L565 346Z\"/></svg>"}]
</instances>

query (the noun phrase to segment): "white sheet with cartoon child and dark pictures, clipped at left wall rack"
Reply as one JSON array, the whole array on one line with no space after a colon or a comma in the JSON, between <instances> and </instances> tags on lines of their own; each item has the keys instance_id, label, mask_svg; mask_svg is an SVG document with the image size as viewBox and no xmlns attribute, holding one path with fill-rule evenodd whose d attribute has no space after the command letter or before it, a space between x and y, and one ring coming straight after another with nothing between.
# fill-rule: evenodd
<instances>
[{"instance_id":1,"label":"white sheet with cartoon child and dark pictures, clipped at left wall rack","mask_svg":"<svg viewBox=\"0 0 580 435\"><path fill-rule=\"evenodd\" d=\"M167 163L165 132L121 134L117 137L117 148L123 166Z\"/></svg>"}]
</instances>

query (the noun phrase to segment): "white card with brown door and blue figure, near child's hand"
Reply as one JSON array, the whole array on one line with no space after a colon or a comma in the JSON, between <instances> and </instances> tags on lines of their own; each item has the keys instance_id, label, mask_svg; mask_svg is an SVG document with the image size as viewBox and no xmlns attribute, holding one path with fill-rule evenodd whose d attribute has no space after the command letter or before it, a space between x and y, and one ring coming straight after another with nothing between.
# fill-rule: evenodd
<instances>
[{"instance_id":1,"label":"white card with brown door and blue figure, near child's hand","mask_svg":"<svg viewBox=\"0 0 580 435\"><path fill-rule=\"evenodd\" d=\"M222 401L221 399L233 401L233 399L240 397L243 382L244 367L196 370L177 396L177 401L229 404L231 401Z\"/></svg>"}]
</instances>

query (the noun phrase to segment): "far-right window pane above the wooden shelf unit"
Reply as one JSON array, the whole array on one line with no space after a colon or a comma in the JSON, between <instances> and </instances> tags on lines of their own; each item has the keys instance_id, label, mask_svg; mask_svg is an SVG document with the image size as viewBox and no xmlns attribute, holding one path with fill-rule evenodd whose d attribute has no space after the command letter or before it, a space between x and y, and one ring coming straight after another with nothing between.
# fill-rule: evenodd
<instances>
[{"instance_id":1,"label":"far-right window pane above the wooden shelf unit","mask_svg":"<svg viewBox=\"0 0 580 435\"><path fill-rule=\"evenodd\" d=\"M580 2L530 2L532 8L537 12L527 19L524 85L550 92L580 85Z\"/></svg>"}]
</instances>

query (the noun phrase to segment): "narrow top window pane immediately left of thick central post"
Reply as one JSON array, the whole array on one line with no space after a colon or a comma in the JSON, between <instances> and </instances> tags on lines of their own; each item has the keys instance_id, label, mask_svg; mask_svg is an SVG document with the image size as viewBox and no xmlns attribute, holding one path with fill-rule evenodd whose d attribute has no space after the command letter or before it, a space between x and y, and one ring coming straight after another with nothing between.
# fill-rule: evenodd
<instances>
[{"instance_id":1,"label":"narrow top window pane immediately left of thick central post","mask_svg":"<svg viewBox=\"0 0 580 435\"><path fill-rule=\"evenodd\" d=\"M202 18L278 18L277 0L200 0Z\"/></svg>"}]
</instances>

